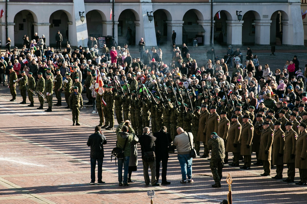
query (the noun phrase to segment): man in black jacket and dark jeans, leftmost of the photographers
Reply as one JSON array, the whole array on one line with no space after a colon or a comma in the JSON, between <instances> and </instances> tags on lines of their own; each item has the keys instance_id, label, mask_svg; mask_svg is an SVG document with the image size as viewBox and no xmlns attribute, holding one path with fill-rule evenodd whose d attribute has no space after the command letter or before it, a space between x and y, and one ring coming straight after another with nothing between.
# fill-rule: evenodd
<instances>
[{"instance_id":1,"label":"man in black jacket and dark jeans, leftmost of the photographers","mask_svg":"<svg viewBox=\"0 0 307 204\"><path fill-rule=\"evenodd\" d=\"M91 182L90 184L95 184L95 167L96 161L98 163L97 184L105 184L102 181L102 163L104 157L103 145L107 144L107 139L103 135L100 126L95 127L95 133L90 135L87 140L87 146L91 147Z\"/></svg>"}]
</instances>

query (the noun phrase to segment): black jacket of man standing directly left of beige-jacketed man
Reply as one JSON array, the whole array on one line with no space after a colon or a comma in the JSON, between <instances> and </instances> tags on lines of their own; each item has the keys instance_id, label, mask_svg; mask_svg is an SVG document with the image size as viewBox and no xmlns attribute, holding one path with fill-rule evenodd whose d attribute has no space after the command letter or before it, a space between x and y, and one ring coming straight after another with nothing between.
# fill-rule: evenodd
<instances>
[{"instance_id":1,"label":"black jacket of man standing directly left of beige-jacketed man","mask_svg":"<svg viewBox=\"0 0 307 204\"><path fill-rule=\"evenodd\" d=\"M155 154L156 157L159 158L169 158L169 150L168 147L171 146L172 138L168 132L164 132L160 130L159 132L153 133L153 136L156 137L156 147Z\"/></svg>"}]
</instances>

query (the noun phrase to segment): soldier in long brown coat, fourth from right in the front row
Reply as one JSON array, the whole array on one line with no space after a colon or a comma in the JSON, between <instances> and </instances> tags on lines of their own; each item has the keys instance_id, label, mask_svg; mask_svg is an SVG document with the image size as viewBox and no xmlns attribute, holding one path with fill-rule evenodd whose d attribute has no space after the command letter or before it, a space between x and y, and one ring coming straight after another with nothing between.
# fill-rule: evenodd
<instances>
[{"instance_id":1,"label":"soldier in long brown coat, fourth from right in the front row","mask_svg":"<svg viewBox=\"0 0 307 204\"><path fill-rule=\"evenodd\" d=\"M262 134L260 137L260 147L258 159L262 160L264 173L261 176L269 176L271 173L271 151L274 137L274 131L270 128L270 123L264 121L262 123Z\"/></svg>"}]
</instances>

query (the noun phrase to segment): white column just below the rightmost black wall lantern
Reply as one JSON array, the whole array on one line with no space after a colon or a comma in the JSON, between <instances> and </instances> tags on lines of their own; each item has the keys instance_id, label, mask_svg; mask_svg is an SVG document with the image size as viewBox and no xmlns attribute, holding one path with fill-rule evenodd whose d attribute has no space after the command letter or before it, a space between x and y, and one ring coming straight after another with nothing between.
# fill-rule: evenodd
<instances>
[{"instance_id":1,"label":"white column just below the rightmost black wall lantern","mask_svg":"<svg viewBox=\"0 0 307 204\"><path fill-rule=\"evenodd\" d=\"M226 20L227 23L227 45L242 46L242 24L243 20Z\"/></svg>"}]
</instances>

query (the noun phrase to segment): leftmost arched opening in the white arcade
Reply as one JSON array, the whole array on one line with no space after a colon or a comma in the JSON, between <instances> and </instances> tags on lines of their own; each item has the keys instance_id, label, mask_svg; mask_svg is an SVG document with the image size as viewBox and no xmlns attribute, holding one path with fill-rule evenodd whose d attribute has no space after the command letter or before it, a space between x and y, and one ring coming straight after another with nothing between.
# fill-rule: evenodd
<instances>
[{"instance_id":1,"label":"leftmost arched opening in the white arcade","mask_svg":"<svg viewBox=\"0 0 307 204\"><path fill-rule=\"evenodd\" d=\"M36 16L29 10L19 11L14 17L14 43L15 46L21 46L23 44L24 35L28 35L29 41L34 37L34 24L36 23ZM10 36L9 36L10 37ZM3 42L3 44L5 44Z\"/></svg>"}]
</instances>

